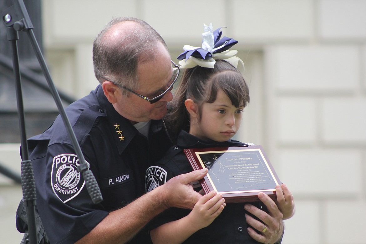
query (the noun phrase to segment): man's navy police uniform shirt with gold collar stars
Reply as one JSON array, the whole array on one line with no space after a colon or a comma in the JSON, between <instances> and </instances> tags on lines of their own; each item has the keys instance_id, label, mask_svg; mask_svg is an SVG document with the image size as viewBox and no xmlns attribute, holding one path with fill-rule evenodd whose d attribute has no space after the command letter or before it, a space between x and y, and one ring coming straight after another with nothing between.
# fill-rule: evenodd
<instances>
[{"instance_id":1,"label":"man's navy police uniform shirt with gold collar stars","mask_svg":"<svg viewBox=\"0 0 366 244\"><path fill-rule=\"evenodd\" d=\"M162 120L152 120L148 139L108 102L99 85L66 108L70 123L100 186L103 201L94 204L78 172L78 158L58 116L43 134L28 140L37 189L37 209L51 243L74 243L109 211L145 192L152 162L172 145ZM130 243L150 243L141 231Z\"/></svg>"}]
</instances>

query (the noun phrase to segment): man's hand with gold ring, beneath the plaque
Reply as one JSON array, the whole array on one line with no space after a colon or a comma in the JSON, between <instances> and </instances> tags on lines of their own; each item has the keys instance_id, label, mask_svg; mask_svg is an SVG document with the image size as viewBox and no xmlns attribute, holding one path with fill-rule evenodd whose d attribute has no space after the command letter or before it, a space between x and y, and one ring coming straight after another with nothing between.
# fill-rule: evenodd
<instances>
[{"instance_id":1,"label":"man's hand with gold ring, beneath the plaque","mask_svg":"<svg viewBox=\"0 0 366 244\"><path fill-rule=\"evenodd\" d=\"M278 209L276 203L273 202L269 196L263 192L259 192L258 198L266 205L269 213L266 213L265 211L262 211L251 204L246 204L244 206L245 209L249 213L261 219L261 221L264 223L263 224L261 221L258 221L257 219L254 219L250 215L246 214L246 222L253 226L253 228L259 230L259 232L262 232L258 234L254 229L248 228L248 234L254 240L261 243L274 244L281 238L283 234L283 215Z\"/></svg>"}]
</instances>

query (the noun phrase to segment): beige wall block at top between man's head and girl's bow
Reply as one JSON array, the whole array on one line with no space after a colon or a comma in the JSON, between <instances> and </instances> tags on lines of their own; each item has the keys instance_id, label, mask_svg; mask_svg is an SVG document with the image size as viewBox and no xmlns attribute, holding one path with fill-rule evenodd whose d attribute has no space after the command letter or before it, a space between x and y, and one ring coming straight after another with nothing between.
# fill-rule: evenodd
<instances>
[{"instance_id":1,"label":"beige wall block at top between man's head and girl's bow","mask_svg":"<svg viewBox=\"0 0 366 244\"><path fill-rule=\"evenodd\" d=\"M223 0L143 0L143 5L142 18L153 26L167 43L174 41L201 47L203 23L212 23L214 30L228 26L229 28L223 30L224 35L228 35L228 31L233 29L227 22Z\"/></svg>"}]
</instances>

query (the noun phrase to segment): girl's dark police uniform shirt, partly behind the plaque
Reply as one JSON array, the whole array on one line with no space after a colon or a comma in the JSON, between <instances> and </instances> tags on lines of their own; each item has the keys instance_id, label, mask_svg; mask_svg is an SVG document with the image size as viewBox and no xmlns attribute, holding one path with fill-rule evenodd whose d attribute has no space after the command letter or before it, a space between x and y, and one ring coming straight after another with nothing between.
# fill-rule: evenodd
<instances>
[{"instance_id":1,"label":"girl's dark police uniform shirt, partly behind the plaque","mask_svg":"<svg viewBox=\"0 0 366 244\"><path fill-rule=\"evenodd\" d=\"M146 189L152 190L158 185L164 184L166 181L179 174L184 174L192 171L191 165L188 162L183 149L187 148L205 148L205 147L228 147L228 146L247 146L244 143L236 140L228 140L226 142L204 141L196 136L188 134L186 131L181 131L176 146L172 146L165 157L158 161L155 166L151 166L146 171L145 184ZM159 172L158 176L154 177ZM197 186L194 184L194 187ZM195 187L199 191L201 186ZM250 203L258 208L262 208L261 202ZM149 224L149 229L152 230L167 222L181 219L188 215L191 210L171 208L158 215ZM198 230L191 235L184 243L240 243L254 244L258 243L252 239L247 232L247 223L245 214L249 214L244 210L244 203L227 203L223 212L206 228Z\"/></svg>"}]
</instances>

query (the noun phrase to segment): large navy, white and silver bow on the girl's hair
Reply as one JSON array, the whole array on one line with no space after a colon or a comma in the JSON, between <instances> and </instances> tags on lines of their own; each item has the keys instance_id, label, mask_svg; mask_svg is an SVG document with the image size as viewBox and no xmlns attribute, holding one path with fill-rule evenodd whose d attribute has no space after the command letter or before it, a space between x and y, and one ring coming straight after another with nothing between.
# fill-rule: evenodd
<instances>
[{"instance_id":1,"label":"large navy, white and silver bow on the girl's hair","mask_svg":"<svg viewBox=\"0 0 366 244\"><path fill-rule=\"evenodd\" d=\"M184 45L184 52L179 55L180 68L193 68L197 65L205 68L213 68L216 60L224 59L238 68L238 63L242 64L241 71L244 71L244 63L234 56L237 50L228 50L238 43L233 38L223 37L221 40L221 28L213 31L212 23L209 26L203 24L202 48L197 46Z\"/></svg>"}]
</instances>

